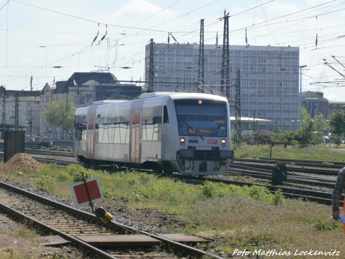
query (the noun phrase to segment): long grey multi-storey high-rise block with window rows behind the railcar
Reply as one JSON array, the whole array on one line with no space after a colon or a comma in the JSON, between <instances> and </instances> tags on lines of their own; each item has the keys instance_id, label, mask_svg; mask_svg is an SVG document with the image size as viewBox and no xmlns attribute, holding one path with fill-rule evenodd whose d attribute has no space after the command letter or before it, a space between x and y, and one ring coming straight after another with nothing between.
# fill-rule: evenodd
<instances>
[{"instance_id":1,"label":"long grey multi-storey high-rise block with window rows behind the railcar","mask_svg":"<svg viewBox=\"0 0 345 259\"><path fill-rule=\"evenodd\" d=\"M204 45L205 93L220 92L222 48L222 45ZM150 44L146 45L145 53L145 81L148 81ZM152 55L155 92L197 92L195 83L201 79L198 78L198 44L154 43ZM241 117L270 120L258 123L255 127L258 130L272 131L276 124L282 131L298 128L298 47L229 46L228 62L232 100L236 94L236 71L240 70ZM231 107L230 116L235 116Z\"/></svg>"}]
</instances>

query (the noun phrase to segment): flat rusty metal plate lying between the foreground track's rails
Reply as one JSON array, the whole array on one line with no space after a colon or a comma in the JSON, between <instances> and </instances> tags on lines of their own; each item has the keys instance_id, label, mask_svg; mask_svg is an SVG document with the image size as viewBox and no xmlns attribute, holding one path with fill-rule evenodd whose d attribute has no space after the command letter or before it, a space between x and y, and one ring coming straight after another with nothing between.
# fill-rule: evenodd
<instances>
[{"instance_id":1,"label":"flat rusty metal plate lying between the foreground track's rails","mask_svg":"<svg viewBox=\"0 0 345 259\"><path fill-rule=\"evenodd\" d=\"M160 241L145 235L80 235L76 238L92 246L154 246Z\"/></svg>"}]
</instances>

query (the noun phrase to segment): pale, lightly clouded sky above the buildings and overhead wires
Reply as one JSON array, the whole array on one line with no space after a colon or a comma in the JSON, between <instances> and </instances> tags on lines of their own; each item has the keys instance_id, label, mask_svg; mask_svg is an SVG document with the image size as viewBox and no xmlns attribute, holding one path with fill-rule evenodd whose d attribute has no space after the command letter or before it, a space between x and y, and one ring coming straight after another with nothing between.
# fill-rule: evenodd
<instances>
[{"instance_id":1,"label":"pale, lightly clouded sky above the buildings and overhead wires","mask_svg":"<svg viewBox=\"0 0 345 259\"><path fill-rule=\"evenodd\" d=\"M345 102L342 0L0 0L0 85L30 90L32 76L41 90L90 71L144 80L151 38L199 44L205 19L204 43L218 34L221 46L227 13L230 45L246 45L247 29L249 45L299 47L302 90Z\"/></svg>"}]
</instances>

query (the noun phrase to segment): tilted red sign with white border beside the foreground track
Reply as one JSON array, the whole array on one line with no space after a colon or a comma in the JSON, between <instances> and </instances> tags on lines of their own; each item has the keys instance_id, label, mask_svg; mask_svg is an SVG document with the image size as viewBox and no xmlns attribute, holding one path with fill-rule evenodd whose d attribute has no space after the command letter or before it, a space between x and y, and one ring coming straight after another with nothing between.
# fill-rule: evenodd
<instances>
[{"instance_id":1,"label":"tilted red sign with white border beside the foreground track","mask_svg":"<svg viewBox=\"0 0 345 259\"><path fill-rule=\"evenodd\" d=\"M104 200L101 184L98 177L93 177L86 180L86 185L90 194L91 202ZM90 203L84 181L72 183L70 187L77 208Z\"/></svg>"}]
</instances>

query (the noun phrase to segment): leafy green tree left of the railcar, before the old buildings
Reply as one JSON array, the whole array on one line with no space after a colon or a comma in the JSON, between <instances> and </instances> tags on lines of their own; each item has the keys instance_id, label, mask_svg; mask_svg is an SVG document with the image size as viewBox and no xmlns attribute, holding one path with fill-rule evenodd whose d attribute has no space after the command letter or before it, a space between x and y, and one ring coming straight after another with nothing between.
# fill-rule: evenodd
<instances>
[{"instance_id":1,"label":"leafy green tree left of the railcar, before the old buildings","mask_svg":"<svg viewBox=\"0 0 345 259\"><path fill-rule=\"evenodd\" d=\"M73 105L72 99L69 99L67 104L66 99L60 99L52 101L42 116L46 117L51 125L69 131L74 127L75 113L76 107Z\"/></svg>"}]
</instances>

